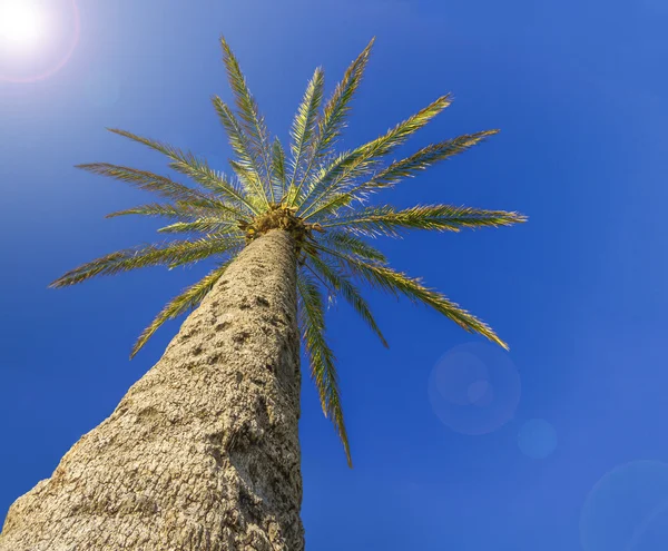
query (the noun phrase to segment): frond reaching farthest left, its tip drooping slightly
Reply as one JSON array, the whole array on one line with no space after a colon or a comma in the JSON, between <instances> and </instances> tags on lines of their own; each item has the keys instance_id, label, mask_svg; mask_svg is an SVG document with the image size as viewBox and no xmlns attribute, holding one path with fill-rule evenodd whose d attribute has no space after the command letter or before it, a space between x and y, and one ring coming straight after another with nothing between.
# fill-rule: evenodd
<instances>
[{"instance_id":1,"label":"frond reaching farthest left, its tip drooping slightly","mask_svg":"<svg viewBox=\"0 0 668 551\"><path fill-rule=\"evenodd\" d=\"M114 275L149 266L183 266L204 260L212 255L227 253L244 243L243 237L209 236L196 240L178 240L146 245L111 253L84 264L51 283L50 287L66 287L99 275Z\"/></svg>"}]
</instances>

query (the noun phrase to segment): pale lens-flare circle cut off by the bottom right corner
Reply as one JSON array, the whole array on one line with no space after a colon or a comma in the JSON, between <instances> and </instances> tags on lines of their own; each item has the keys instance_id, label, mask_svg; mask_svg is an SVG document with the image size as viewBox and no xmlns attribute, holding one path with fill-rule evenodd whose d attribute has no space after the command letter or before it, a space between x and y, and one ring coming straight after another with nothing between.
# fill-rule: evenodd
<instances>
[{"instance_id":1,"label":"pale lens-flare circle cut off by the bottom right corner","mask_svg":"<svg viewBox=\"0 0 668 551\"><path fill-rule=\"evenodd\" d=\"M606 474L580 515L584 551L657 551L668 542L668 464L636 461Z\"/></svg>"}]
</instances>

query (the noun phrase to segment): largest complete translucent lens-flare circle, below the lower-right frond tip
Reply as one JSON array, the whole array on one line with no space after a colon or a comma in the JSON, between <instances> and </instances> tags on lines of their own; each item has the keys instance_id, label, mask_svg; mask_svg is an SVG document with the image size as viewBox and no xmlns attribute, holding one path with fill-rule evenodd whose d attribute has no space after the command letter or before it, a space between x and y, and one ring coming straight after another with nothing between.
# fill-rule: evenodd
<instances>
[{"instance_id":1,"label":"largest complete translucent lens-flare circle, below the lower-right frond tip","mask_svg":"<svg viewBox=\"0 0 668 551\"><path fill-rule=\"evenodd\" d=\"M498 347L469 343L455 346L436 362L428 392L443 424L461 434L488 434L514 415L520 375Z\"/></svg>"}]
</instances>

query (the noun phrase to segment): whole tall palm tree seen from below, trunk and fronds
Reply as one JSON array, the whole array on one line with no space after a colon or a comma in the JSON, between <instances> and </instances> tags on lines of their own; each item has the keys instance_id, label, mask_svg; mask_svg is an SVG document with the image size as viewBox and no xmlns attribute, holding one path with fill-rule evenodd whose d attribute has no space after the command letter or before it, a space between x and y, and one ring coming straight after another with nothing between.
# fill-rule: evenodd
<instances>
[{"instance_id":1,"label":"whole tall palm tree seen from below, trunk and fronds","mask_svg":"<svg viewBox=\"0 0 668 551\"><path fill-rule=\"evenodd\" d=\"M292 126L289 155L269 139L222 40L236 109L219 97L213 102L235 154L229 175L188 151L117 129L164 154L194 185L105 163L79 166L167 199L110 217L167 218L159 232L185 237L112 253L51 286L148 266L171 269L209 258L216 265L173 298L135 344L132 356L163 323L194 309L158 363L73 445L51 479L11 506L1 551L302 550L301 341L323 412L352 466L325 308L327 298L342 296L386 345L358 283L424 303L505 347L488 325L390 267L369 243L411 229L458 232L525 219L450 205L370 204L376 191L497 132L459 136L384 161L450 105L443 96L373 141L335 152L372 43L325 102L324 73L315 70Z\"/></svg>"}]
</instances>

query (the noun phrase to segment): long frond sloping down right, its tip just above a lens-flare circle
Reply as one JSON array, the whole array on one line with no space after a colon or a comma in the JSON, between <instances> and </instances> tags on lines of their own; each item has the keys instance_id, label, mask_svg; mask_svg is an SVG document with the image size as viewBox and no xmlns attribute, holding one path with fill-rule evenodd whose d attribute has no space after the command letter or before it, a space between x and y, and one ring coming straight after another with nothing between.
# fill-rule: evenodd
<instances>
[{"instance_id":1,"label":"long frond sloping down right, its tip just above a lens-flare circle","mask_svg":"<svg viewBox=\"0 0 668 551\"><path fill-rule=\"evenodd\" d=\"M424 287L419 278L409 277L401 272L395 272L392 268L389 268L387 266L380 266L374 263L362 260L327 247L316 245L315 248L332 255L334 258L337 258L343 266L369 283L372 287L381 288L382 291L389 292L395 296L402 294L409 297L411 301L421 302L428 306L431 306L436 312L443 314L445 317L453 321L469 333L480 333L490 341L508 350L508 345L497 336L494 331L489 325L478 319L465 309L461 308L458 304L450 301L445 295L439 293L438 291Z\"/></svg>"}]
</instances>

